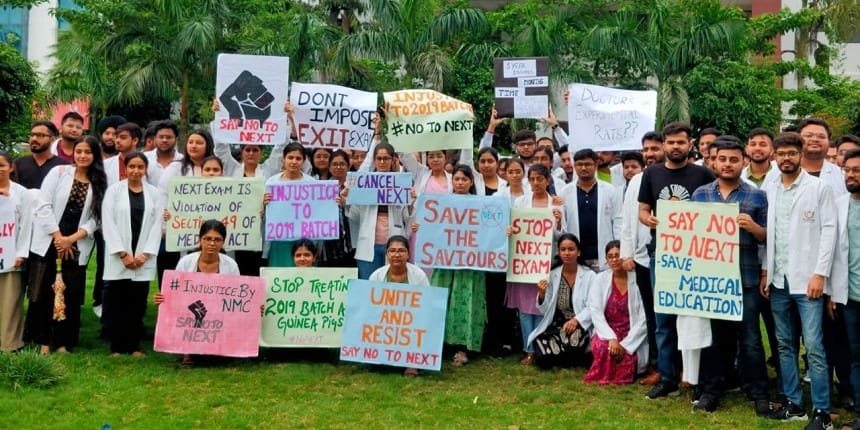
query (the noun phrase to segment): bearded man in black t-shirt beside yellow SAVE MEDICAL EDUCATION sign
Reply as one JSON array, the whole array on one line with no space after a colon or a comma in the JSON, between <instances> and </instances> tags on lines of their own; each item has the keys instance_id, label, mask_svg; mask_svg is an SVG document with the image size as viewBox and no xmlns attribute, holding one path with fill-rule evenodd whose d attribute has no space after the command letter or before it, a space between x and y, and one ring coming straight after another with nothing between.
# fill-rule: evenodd
<instances>
[{"instance_id":1,"label":"bearded man in black t-shirt beside yellow SAVE MEDICAL EDUCATION sign","mask_svg":"<svg viewBox=\"0 0 860 430\"><path fill-rule=\"evenodd\" d=\"M690 139L692 129L689 124L673 122L663 128L663 164L655 164L642 174L639 188L639 221L651 229L651 242L648 254L651 257L651 285L654 279L654 248L656 243L657 204L660 200L689 200L693 191L700 186L713 182L713 172L689 163L693 144ZM656 399L678 394L678 331L675 326L676 315L656 315L657 322L657 371L660 382L648 392L648 398ZM698 370L698 369L697 369Z\"/></svg>"}]
</instances>

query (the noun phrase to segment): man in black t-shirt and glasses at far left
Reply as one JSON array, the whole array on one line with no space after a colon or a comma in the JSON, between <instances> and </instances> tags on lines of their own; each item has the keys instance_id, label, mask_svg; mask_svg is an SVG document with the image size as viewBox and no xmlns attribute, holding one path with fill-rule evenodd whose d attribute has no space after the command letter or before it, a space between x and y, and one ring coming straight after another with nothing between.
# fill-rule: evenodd
<instances>
[{"instance_id":1,"label":"man in black t-shirt and glasses at far left","mask_svg":"<svg viewBox=\"0 0 860 430\"><path fill-rule=\"evenodd\" d=\"M51 141L57 134L59 131L51 121L33 123L30 127L31 155L15 160L12 180L27 189L39 188L51 169L61 164L69 164L51 153Z\"/></svg>"}]
</instances>

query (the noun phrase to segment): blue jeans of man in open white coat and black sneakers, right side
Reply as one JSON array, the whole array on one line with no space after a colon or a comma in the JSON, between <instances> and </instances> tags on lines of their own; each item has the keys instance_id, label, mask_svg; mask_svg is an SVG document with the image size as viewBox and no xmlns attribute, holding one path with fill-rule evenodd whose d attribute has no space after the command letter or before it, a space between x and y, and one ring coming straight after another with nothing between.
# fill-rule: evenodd
<instances>
[{"instance_id":1,"label":"blue jeans of man in open white coat and black sneakers, right side","mask_svg":"<svg viewBox=\"0 0 860 430\"><path fill-rule=\"evenodd\" d=\"M803 346L809 358L809 376L812 379L812 407L830 411L830 377L827 372L827 357L824 353L824 335L821 330L824 314L823 298L810 299L806 294L791 294L785 288L770 288L770 306L776 326L776 341L779 350L780 379L785 397L796 405L803 405L803 390L800 388L800 366L797 363L797 329L792 319L800 315L800 330Z\"/></svg>"}]
</instances>

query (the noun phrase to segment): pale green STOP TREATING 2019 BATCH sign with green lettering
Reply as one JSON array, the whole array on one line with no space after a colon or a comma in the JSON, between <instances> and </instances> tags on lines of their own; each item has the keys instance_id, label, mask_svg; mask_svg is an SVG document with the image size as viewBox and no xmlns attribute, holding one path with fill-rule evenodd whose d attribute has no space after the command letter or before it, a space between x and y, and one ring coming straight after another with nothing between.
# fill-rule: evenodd
<instances>
[{"instance_id":1,"label":"pale green STOP TREATING 2019 BATCH sign with green lettering","mask_svg":"<svg viewBox=\"0 0 860 430\"><path fill-rule=\"evenodd\" d=\"M260 269L266 282L260 346L338 348L356 268Z\"/></svg>"}]
</instances>

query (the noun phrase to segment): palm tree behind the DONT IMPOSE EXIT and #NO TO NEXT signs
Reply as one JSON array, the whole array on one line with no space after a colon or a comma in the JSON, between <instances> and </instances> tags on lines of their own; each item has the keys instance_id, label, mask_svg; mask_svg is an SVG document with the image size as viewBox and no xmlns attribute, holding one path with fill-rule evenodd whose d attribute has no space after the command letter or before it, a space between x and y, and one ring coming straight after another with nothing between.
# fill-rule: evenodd
<instances>
[{"instance_id":1,"label":"palm tree behind the DONT IMPOSE EXIT and #NO TO NEXT signs","mask_svg":"<svg viewBox=\"0 0 860 430\"><path fill-rule=\"evenodd\" d=\"M365 6L373 21L340 40L333 67L358 70L365 58L393 62L402 67L405 87L444 88L457 45L489 29L481 10L439 0L367 0Z\"/></svg>"}]
</instances>

